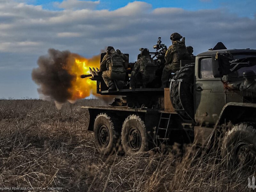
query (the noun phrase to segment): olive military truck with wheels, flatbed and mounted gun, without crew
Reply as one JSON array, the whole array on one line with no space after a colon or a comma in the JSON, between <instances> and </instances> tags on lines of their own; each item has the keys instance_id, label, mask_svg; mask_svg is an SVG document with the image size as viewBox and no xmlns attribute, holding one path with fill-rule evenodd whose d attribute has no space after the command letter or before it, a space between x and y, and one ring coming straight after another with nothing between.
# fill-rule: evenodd
<instances>
[{"instance_id":1,"label":"olive military truck with wheels, flatbed and mounted gun, without crew","mask_svg":"<svg viewBox=\"0 0 256 192\"><path fill-rule=\"evenodd\" d=\"M92 73L98 94L117 96L108 107L83 107L89 110L88 130L94 134L97 150L107 154L121 146L126 155L133 155L162 142L191 143L195 135L203 142L215 126L232 124L221 146L222 156L228 157L230 165L255 160L255 76L250 89L230 89L228 84L243 84L246 71L256 71L256 50L227 49L219 42L198 54L194 63L180 61L170 88L160 88L166 46L159 41L154 48L160 51L150 52L158 64L150 87L129 89L127 72L126 87L108 91L101 76Z\"/></svg>"}]
</instances>

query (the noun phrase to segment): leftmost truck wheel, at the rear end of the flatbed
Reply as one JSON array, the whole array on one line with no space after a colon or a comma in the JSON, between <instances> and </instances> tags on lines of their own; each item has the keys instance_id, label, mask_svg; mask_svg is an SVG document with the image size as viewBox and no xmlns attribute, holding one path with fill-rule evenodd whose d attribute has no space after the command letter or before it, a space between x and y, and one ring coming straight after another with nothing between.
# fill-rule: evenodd
<instances>
[{"instance_id":1,"label":"leftmost truck wheel, at the rear end of the flatbed","mask_svg":"<svg viewBox=\"0 0 256 192\"><path fill-rule=\"evenodd\" d=\"M96 116L93 126L94 144L97 150L103 154L113 152L116 144L114 124L106 113Z\"/></svg>"}]
</instances>

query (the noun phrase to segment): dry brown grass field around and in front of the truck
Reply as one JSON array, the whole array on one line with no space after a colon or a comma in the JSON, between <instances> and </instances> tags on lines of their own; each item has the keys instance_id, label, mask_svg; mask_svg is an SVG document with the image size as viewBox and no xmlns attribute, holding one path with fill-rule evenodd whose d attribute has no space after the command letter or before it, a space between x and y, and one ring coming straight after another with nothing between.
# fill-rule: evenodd
<instances>
[{"instance_id":1,"label":"dry brown grass field around and in front of the truck","mask_svg":"<svg viewBox=\"0 0 256 192\"><path fill-rule=\"evenodd\" d=\"M217 152L196 146L185 154L173 146L165 153L100 155L87 132L89 113L80 106L101 104L81 100L58 110L42 100L0 100L0 188L249 191L248 175L227 171Z\"/></svg>"}]
</instances>

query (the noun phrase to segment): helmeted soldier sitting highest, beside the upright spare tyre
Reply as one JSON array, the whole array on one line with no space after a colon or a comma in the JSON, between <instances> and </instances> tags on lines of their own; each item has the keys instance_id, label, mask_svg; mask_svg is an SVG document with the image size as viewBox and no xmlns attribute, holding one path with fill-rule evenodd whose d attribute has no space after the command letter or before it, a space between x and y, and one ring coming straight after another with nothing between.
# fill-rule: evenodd
<instances>
[{"instance_id":1,"label":"helmeted soldier sitting highest, beside the upright spare tyre","mask_svg":"<svg viewBox=\"0 0 256 192\"><path fill-rule=\"evenodd\" d=\"M181 38L182 36L179 33L173 33L170 36L172 45L169 46L164 56L166 65L164 66L162 74L163 88L168 87L171 73L175 73L176 71L180 70L180 60L191 59L187 47L185 45L185 37L183 37L182 40L180 41Z\"/></svg>"}]
</instances>

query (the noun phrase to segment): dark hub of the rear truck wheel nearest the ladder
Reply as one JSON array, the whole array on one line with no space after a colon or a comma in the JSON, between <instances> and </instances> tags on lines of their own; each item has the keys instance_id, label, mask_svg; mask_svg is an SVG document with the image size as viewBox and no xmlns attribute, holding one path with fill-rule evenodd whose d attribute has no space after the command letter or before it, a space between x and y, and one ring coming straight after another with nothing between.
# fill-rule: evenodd
<instances>
[{"instance_id":1,"label":"dark hub of the rear truck wheel nearest the ladder","mask_svg":"<svg viewBox=\"0 0 256 192\"><path fill-rule=\"evenodd\" d=\"M141 146L141 134L137 127L131 127L128 132L128 144L133 151L137 152Z\"/></svg>"}]
</instances>

